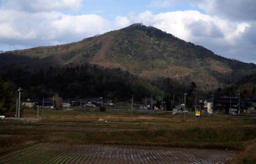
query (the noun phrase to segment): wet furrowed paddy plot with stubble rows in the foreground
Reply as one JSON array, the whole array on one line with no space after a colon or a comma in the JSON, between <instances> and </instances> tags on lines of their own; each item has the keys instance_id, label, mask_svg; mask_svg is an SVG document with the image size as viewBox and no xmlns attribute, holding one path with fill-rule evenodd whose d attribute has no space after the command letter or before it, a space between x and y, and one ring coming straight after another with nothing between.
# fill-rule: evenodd
<instances>
[{"instance_id":1,"label":"wet furrowed paddy plot with stubble rows in the foreground","mask_svg":"<svg viewBox=\"0 0 256 164\"><path fill-rule=\"evenodd\" d=\"M224 164L236 152L147 146L39 143L0 157L4 164Z\"/></svg>"}]
</instances>

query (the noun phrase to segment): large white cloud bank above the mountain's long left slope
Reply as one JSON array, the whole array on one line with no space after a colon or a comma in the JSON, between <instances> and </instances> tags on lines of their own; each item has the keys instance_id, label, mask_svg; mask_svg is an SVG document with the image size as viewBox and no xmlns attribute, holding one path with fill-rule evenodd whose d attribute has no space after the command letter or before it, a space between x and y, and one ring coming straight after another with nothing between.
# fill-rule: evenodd
<instances>
[{"instance_id":1,"label":"large white cloud bank above the mountain's long left slope","mask_svg":"<svg viewBox=\"0 0 256 164\"><path fill-rule=\"evenodd\" d=\"M59 11L44 11L44 9L39 12L29 12L15 7L6 8L12 3L15 5L15 2L18 1L4 1L5 7L0 8L0 46L4 47L1 50L8 50L7 45L10 44L18 49L76 42L112 30L109 20L94 14L72 16ZM76 5L79 1L61 0L61 2L64 6L70 2L72 8L72 4ZM33 9L36 9L34 6L36 3L31 3ZM55 5L56 3L53 3L52 7Z\"/></svg>"}]
</instances>

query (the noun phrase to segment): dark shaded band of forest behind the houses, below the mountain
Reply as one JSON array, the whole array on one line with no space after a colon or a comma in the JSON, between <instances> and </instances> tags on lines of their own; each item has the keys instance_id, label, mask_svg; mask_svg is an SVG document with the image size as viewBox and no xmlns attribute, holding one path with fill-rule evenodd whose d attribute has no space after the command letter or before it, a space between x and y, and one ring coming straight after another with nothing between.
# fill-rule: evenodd
<instances>
[{"instance_id":1,"label":"dark shaded band of forest behind the houses, below the mountain","mask_svg":"<svg viewBox=\"0 0 256 164\"><path fill-rule=\"evenodd\" d=\"M133 94L135 100L141 100L144 96L160 92L153 85L145 83L137 76L124 72L120 68L103 69L86 64L75 68L72 66L49 67L35 70L33 73L21 69L6 71L7 73L2 74L1 77L25 89L25 96L30 98L47 98L58 93L63 99L101 96L119 101L130 99ZM4 89L6 90L8 91ZM3 95L6 93L4 92ZM13 101L9 98L8 100ZM6 99L3 99L3 102L6 102Z\"/></svg>"}]
</instances>

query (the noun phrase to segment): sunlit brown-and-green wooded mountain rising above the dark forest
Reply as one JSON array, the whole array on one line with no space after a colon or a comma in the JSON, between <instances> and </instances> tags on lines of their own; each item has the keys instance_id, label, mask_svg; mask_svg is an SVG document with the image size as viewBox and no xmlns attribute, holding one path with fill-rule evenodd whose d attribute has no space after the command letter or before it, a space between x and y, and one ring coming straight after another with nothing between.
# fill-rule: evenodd
<instances>
[{"instance_id":1,"label":"sunlit brown-and-green wooded mountain rising above the dark forest","mask_svg":"<svg viewBox=\"0 0 256 164\"><path fill-rule=\"evenodd\" d=\"M141 23L79 42L0 54L0 66L13 65L25 70L69 64L120 68L154 83L160 77L187 86L193 81L200 90L230 85L256 73L255 64L221 57Z\"/></svg>"}]
</instances>

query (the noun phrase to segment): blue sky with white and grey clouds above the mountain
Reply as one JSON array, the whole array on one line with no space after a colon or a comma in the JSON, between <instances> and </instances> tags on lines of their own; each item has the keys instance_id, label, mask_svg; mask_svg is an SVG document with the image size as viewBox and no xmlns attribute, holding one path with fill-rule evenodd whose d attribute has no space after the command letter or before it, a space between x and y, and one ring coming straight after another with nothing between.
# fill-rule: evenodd
<instances>
[{"instance_id":1,"label":"blue sky with white and grey clouds above the mountain","mask_svg":"<svg viewBox=\"0 0 256 164\"><path fill-rule=\"evenodd\" d=\"M0 51L76 42L133 23L256 64L255 0L0 0Z\"/></svg>"}]
</instances>

